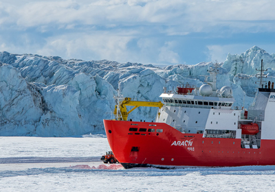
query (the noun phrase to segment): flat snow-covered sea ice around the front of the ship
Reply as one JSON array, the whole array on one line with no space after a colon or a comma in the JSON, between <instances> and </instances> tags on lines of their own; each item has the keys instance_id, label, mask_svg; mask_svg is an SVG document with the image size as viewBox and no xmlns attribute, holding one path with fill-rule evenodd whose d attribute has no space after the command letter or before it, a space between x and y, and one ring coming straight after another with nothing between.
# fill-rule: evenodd
<instances>
[{"instance_id":1,"label":"flat snow-covered sea ice around the front of the ship","mask_svg":"<svg viewBox=\"0 0 275 192\"><path fill-rule=\"evenodd\" d=\"M102 137L0 137L0 147L0 160L15 162L0 164L0 191L275 191L275 166L125 170L104 165L97 160L109 150ZM16 162L24 158L37 161ZM88 158L93 161L85 162Z\"/></svg>"}]
</instances>

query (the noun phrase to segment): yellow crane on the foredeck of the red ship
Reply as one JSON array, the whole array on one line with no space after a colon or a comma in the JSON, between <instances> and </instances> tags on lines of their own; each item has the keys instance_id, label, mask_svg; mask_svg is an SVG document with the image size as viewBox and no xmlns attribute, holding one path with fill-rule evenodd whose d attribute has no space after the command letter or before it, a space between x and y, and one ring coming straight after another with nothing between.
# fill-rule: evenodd
<instances>
[{"instance_id":1,"label":"yellow crane on the foredeck of the red ship","mask_svg":"<svg viewBox=\"0 0 275 192\"><path fill-rule=\"evenodd\" d=\"M131 110L127 111L126 106L134 106ZM153 101L131 101L131 98L125 97L124 100L118 100L118 106L115 106L115 110L113 114L115 115L115 119L119 121L127 121L128 115L130 112L135 110L138 107L158 107L162 108L164 104L161 101L153 102ZM160 112L158 113L160 115Z\"/></svg>"}]
</instances>

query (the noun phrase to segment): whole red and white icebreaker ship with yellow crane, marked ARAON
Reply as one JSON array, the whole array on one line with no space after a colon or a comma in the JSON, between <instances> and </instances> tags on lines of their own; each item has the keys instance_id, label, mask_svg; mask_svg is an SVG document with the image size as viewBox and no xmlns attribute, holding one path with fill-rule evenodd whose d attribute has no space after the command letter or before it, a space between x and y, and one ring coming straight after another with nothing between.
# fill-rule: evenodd
<instances>
[{"instance_id":1,"label":"whole red and white icebreaker ship with yellow crane, marked ARAON","mask_svg":"<svg viewBox=\"0 0 275 192\"><path fill-rule=\"evenodd\" d=\"M275 165L274 87L261 86L252 106L239 110L229 86L216 88L218 67L210 67L200 88L162 93L164 104L118 99L104 128L124 168ZM155 122L128 121L138 106L158 107Z\"/></svg>"}]
</instances>

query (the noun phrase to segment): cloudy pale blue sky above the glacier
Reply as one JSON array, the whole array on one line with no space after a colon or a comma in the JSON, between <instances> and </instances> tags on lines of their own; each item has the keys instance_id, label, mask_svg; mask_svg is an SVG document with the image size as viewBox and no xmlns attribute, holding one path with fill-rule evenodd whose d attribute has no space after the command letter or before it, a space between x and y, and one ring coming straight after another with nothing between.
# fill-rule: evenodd
<instances>
[{"instance_id":1,"label":"cloudy pale blue sky above the glacier","mask_svg":"<svg viewBox=\"0 0 275 192\"><path fill-rule=\"evenodd\" d=\"M142 64L275 53L273 0L1 0L0 51Z\"/></svg>"}]
</instances>

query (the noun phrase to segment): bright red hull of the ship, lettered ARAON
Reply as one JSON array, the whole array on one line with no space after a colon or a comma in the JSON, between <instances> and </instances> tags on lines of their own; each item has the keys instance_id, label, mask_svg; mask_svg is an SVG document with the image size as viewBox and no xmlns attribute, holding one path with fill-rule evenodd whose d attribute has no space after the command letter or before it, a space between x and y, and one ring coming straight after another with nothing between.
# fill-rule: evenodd
<instances>
[{"instance_id":1,"label":"bright red hull of the ship, lettered ARAON","mask_svg":"<svg viewBox=\"0 0 275 192\"><path fill-rule=\"evenodd\" d=\"M245 149L241 139L203 138L166 123L104 120L104 127L115 158L125 168L275 165L274 140L262 139L259 149Z\"/></svg>"}]
</instances>

